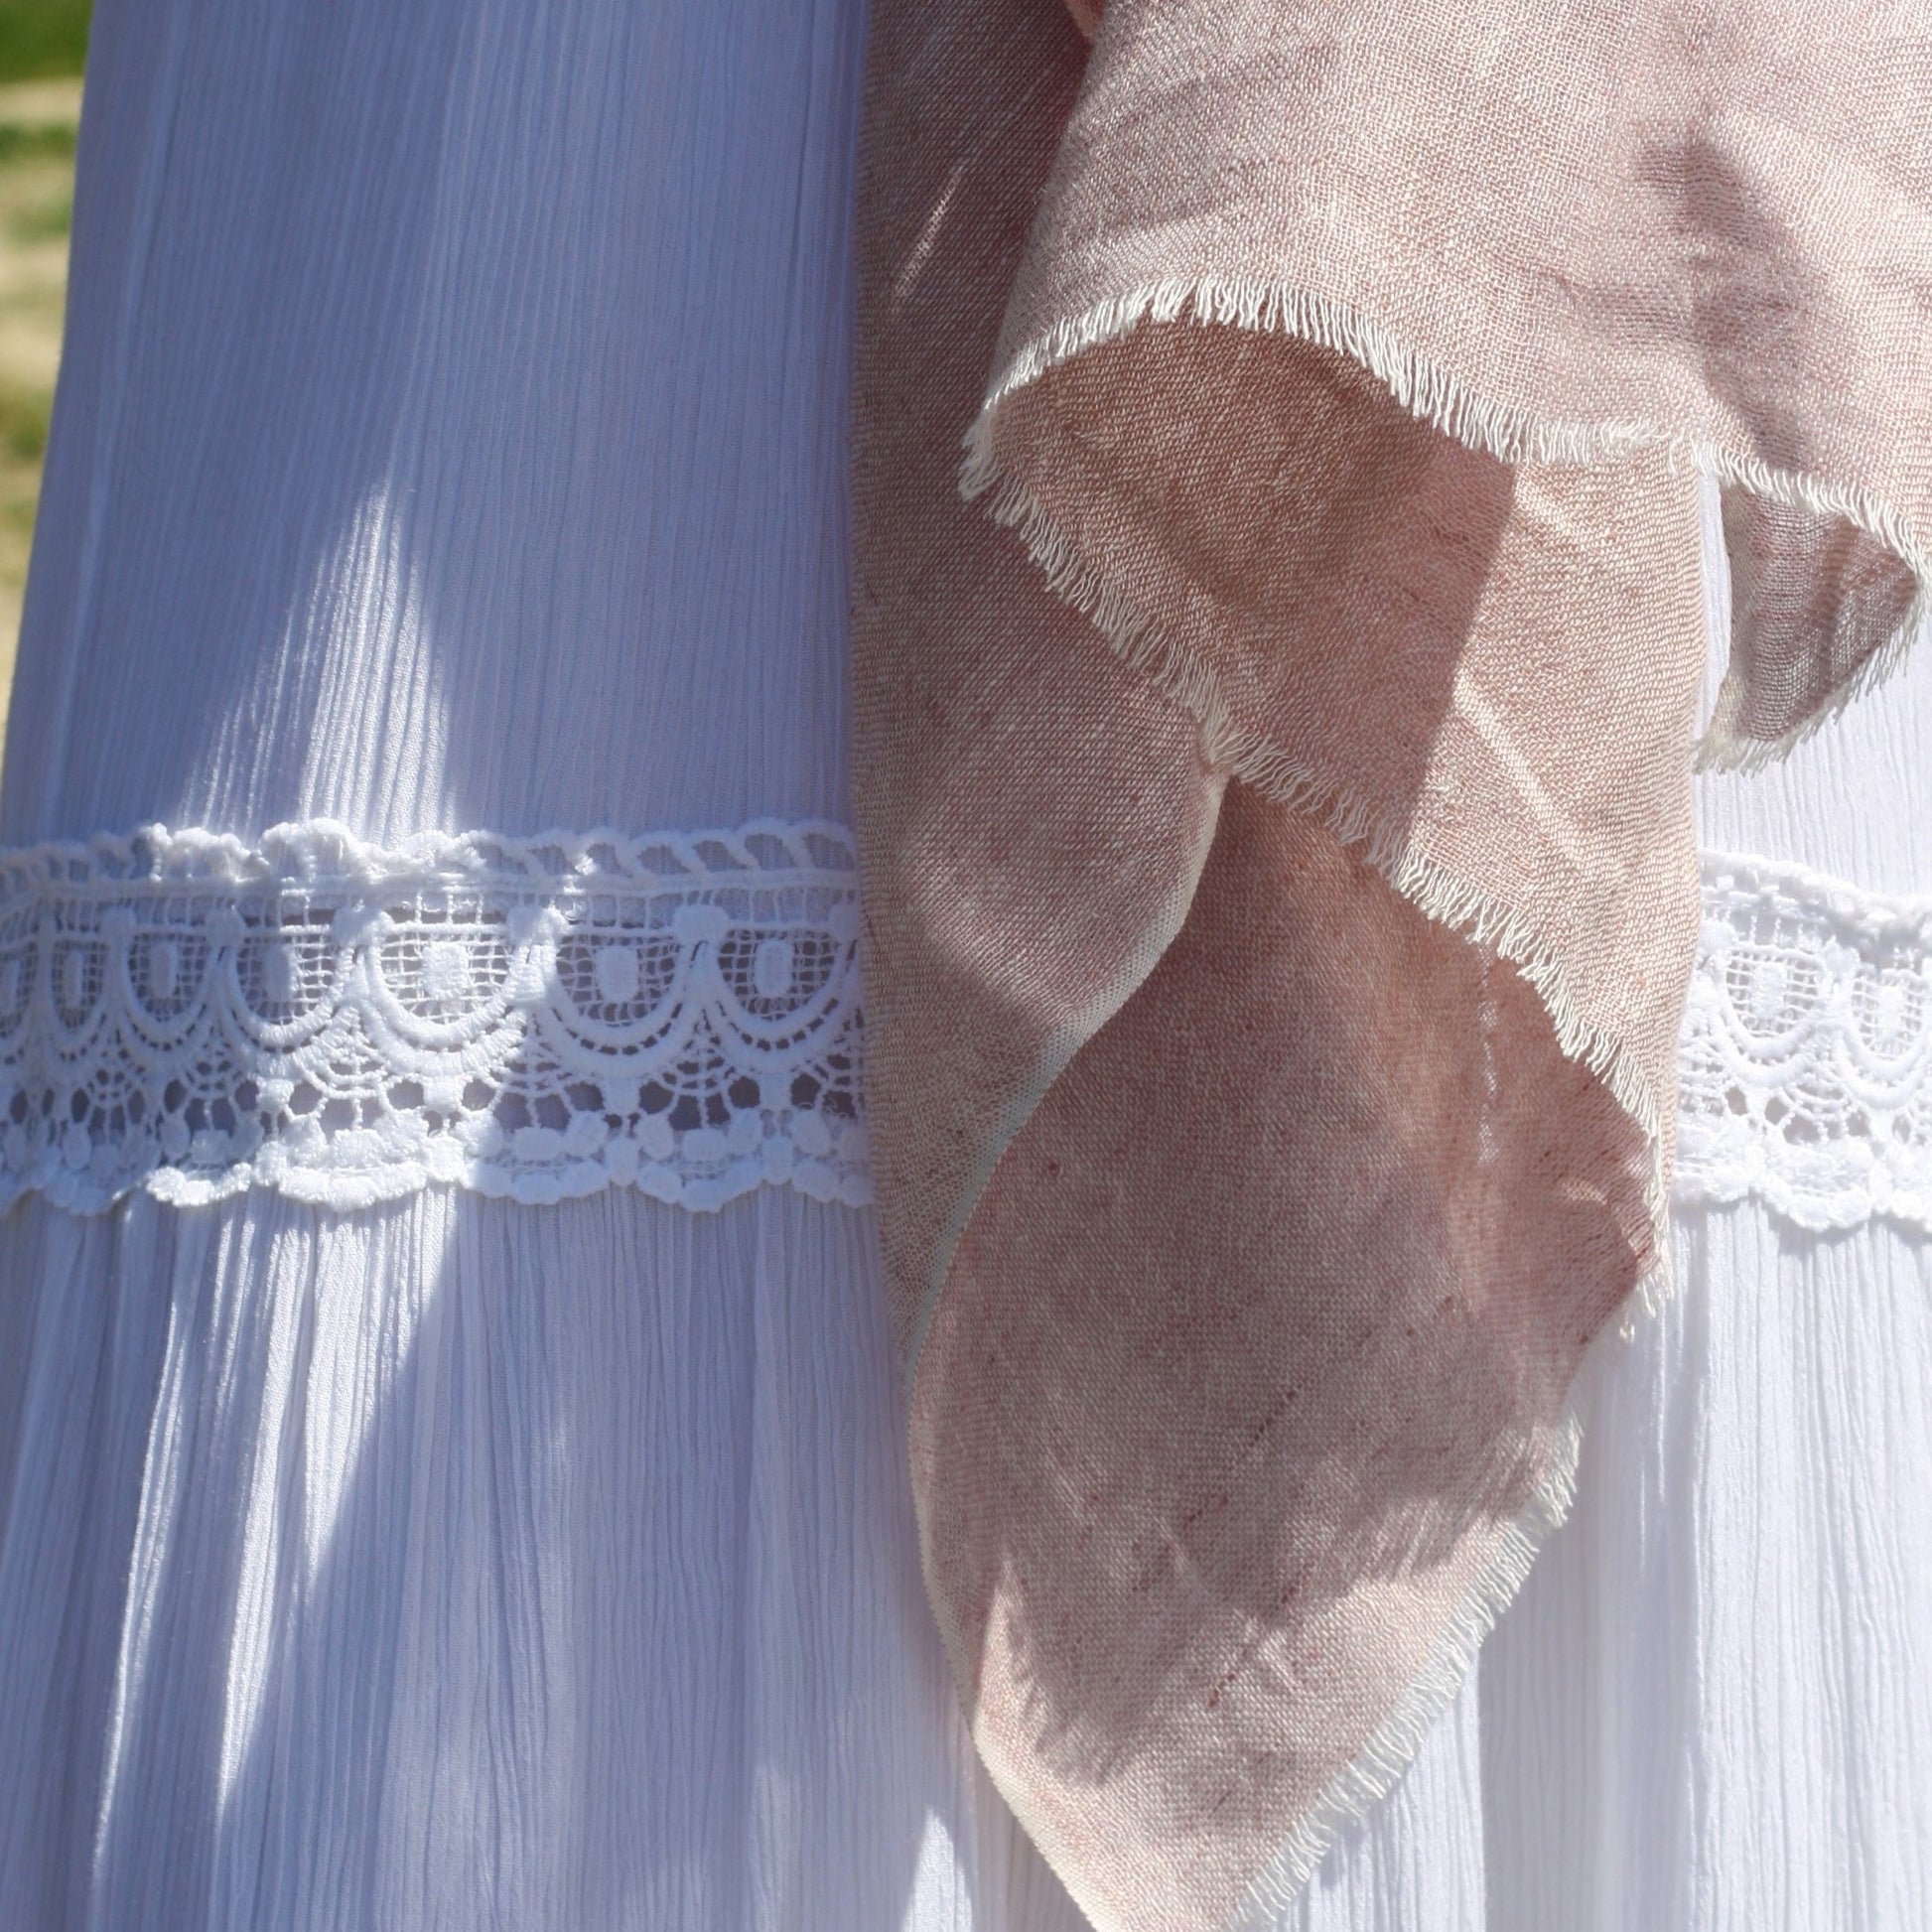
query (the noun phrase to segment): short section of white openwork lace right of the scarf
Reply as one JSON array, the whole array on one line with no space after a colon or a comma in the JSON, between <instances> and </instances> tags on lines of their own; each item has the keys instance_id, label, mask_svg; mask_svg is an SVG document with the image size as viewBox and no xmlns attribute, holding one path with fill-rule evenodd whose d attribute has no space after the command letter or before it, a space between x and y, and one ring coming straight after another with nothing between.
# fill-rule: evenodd
<instances>
[{"instance_id":1,"label":"short section of white openwork lace right of the scarf","mask_svg":"<svg viewBox=\"0 0 1932 1932\"><path fill-rule=\"evenodd\" d=\"M1677 1198L1806 1229L1932 1229L1932 902L1706 860L1679 1045Z\"/></svg>"}]
</instances>

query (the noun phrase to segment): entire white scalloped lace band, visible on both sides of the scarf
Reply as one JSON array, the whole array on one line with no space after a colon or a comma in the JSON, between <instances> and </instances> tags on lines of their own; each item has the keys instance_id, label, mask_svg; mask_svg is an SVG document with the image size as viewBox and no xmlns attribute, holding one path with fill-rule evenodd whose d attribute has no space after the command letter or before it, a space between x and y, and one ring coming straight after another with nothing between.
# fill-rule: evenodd
<instances>
[{"instance_id":1,"label":"entire white scalloped lace band, visible on both sides of the scarf","mask_svg":"<svg viewBox=\"0 0 1932 1932\"><path fill-rule=\"evenodd\" d=\"M850 833L151 827L0 852L0 1209L871 1198ZM1932 902L1712 858L1681 1204L1932 1229Z\"/></svg>"}]
</instances>

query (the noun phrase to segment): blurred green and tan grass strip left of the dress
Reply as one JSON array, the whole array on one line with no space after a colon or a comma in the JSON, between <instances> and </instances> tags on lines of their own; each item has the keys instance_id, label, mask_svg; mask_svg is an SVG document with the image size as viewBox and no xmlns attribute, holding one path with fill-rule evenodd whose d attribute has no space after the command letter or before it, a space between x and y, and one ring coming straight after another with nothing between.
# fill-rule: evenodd
<instances>
[{"instance_id":1,"label":"blurred green and tan grass strip left of the dress","mask_svg":"<svg viewBox=\"0 0 1932 1932\"><path fill-rule=\"evenodd\" d=\"M54 408L89 0L0 0L0 728Z\"/></svg>"}]
</instances>

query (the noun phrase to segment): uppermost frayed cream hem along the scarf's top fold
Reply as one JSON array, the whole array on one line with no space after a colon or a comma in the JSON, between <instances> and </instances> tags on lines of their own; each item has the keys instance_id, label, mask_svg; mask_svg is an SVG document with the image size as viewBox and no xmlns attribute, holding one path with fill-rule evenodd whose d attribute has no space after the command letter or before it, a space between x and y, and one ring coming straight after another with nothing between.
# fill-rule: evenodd
<instances>
[{"instance_id":1,"label":"uppermost frayed cream hem along the scarf's top fold","mask_svg":"<svg viewBox=\"0 0 1932 1932\"><path fill-rule=\"evenodd\" d=\"M1687 437L1656 423L1549 423L1528 410L1474 394L1434 357L1401 342L1393 330L1329 296L1283 282L1227 276L1148 282L1095 303L1084 315L1055 323L1022 348L1001 371L966 433L960 491L978 497L999 483L993 456L993 419L1016 390L1074 355L1130 334L1144 321L1242 328L1256 334L1296 336L1352 363L1381 383L1408 413L1505 464L1598 464L1638 450L1663 450L1679 468L1696 469L1816 516L1837 516L1876 537L1913 574L1917 593L1891 636L1839 684L1816 711L1772 740L1737 738L1714 723L1696 750L1698 771L1756 771L1783 757L1793 746L1830 724L1849 703L1884 684L1911 655L1926 618L1932 616L1932 558L1918 533L1899 512L1868 491L1833 483L1797 469L1777 469L1756 456L1743 456L1708 439ZM1097 620L1095 620L1097 622Z\"/></svg>"}]
</instances>

